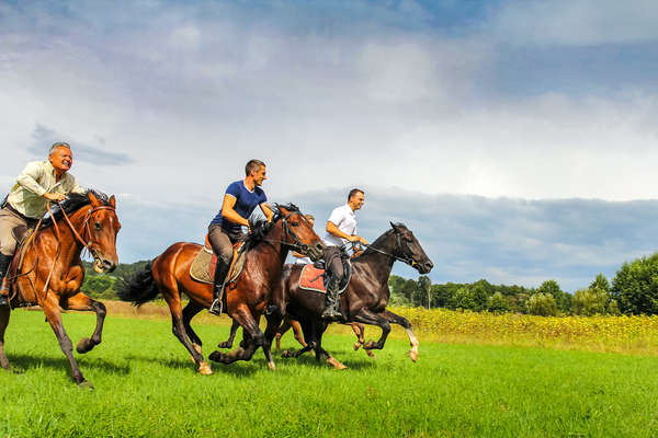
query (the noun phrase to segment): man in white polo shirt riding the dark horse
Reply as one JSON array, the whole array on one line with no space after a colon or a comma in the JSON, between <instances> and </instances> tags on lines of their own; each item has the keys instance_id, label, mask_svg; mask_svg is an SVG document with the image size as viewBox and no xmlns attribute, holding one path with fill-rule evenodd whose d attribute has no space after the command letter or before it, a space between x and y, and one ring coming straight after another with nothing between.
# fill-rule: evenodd
<instances>
[{"instance_id":1,"label":"man in white polo shirt riding the dark horse","mask_svg":"<svg viewBox=\"0 0 658 438\"><path fill-rule=\"evenodd\" d=\"M329 281L322 312L322 319L327 321L338 321L342 318L338 288L343 278L342 258L348 257L343 246L348 242L353 244L361 242L367 245L366 240L356 234L356 215L354 214L363 206L364 199L362 189L352 188L348 195L348 204L334 208L327 221L327 234L324 240L327 245L325 263L329 272Z\"/></svg>"}]
</instances>

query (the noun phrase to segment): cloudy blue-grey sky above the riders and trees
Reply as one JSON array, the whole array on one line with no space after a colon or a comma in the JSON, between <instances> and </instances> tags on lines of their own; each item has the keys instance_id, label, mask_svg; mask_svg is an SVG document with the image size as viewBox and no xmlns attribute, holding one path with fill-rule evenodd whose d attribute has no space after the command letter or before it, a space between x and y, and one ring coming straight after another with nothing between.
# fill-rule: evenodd
<instances>
[{"instance_id":1,"label":"cloudy blue-grey sky above the riders and trees","mask_svg":"<svg viewBox=\"0 0 658 438\"><path fill-rule=\"evenodd\" d=\"M648 0L0 0L0 186L70 142L131 263L201 241L259 158L320 234L361 187L363 235L407 223L433 281L574 291L658 246L656 22Z\"/></svg>"}]
</instances>

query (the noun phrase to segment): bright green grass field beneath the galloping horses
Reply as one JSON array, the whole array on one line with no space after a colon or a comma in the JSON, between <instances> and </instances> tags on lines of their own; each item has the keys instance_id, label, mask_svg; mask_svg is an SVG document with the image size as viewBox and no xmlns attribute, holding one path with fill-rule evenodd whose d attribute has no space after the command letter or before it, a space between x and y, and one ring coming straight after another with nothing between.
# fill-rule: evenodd
<instances>
[{"instance_id":1,"label":"bright green grass field beneath the galloping horses","mask_svg":"<svg viewBox=\"0 0 658 438\"><path fill-rule=\"evenodd\" d=\"M73 343L94 316L66 314ZM197 324L207 355L228 327ZM372 334L372 330L370 333ZM41 312L16 311L0 371L0 436L650 437L658 358L389 339L376 359L327 336L349 369L275 357L195 372L168 321L110 316L103 344L77 355L95 390L76 387ZM287 335L285 347L295 347Z\"/></svg>"}]
</instances>

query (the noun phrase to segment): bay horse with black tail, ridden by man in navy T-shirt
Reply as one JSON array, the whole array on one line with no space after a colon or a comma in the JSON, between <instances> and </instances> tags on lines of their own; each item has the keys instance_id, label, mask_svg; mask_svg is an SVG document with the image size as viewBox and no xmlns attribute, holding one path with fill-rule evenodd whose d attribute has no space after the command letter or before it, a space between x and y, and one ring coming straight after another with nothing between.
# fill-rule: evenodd
<instances>
[{"instance_id":1,"label":"bay horse with black tail, ridden by man in navy T-shirt","mask_svg":"<svg viewBox=\"0 0 658 438\"><path fill-rule=\"evenodd\" d=\"M275 369L270 342L261 332L258 322L265 311L273 285L281 279L281 266L288 250L293 249L311 260L324 255L325 246L313 231L298 208L292 204L274 207L271 223L254 224L247 237L247 260L242 273L225 290L226 311L246 333L239 348L230 354L213 351L212 360L232 364L236 360L250 360L258 347L263 348L268 366ZM178 242L149 263L143 272L125 280L118 288L118 297L140 306L162 293L171 311L173 335L192 355L202 374L212 374L211 366L202 354L203 343L196 335L190 321L202 309L208 309L213 302L213 285L200 283L190 276L190 266L202 245ZM186 295L190 302L181 307L181 296Z\"/></svg>"}]
</instances>

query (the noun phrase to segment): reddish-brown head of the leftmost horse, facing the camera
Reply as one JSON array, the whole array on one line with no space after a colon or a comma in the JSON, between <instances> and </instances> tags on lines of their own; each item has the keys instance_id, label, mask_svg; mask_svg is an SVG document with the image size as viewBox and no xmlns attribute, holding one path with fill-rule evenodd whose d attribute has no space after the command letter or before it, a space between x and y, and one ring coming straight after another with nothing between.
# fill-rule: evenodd
<instances>
[{"instance_id":1,"label":"reddish-brown head of the leftmost horse, facing the camera","mask_svg":"<svg viewBox=\"0 0 658 438\"><path fill-rule=\"evenodd\" d=\"M121 223L116 216L116 199L112 195L110 199L104 200L93 192L89 192L88 196L91 205L87 212L83 239L87 240L87 247L93 255L94 270L111 273L118 265L116 234Z\"/></svg>"}]
</instances>

